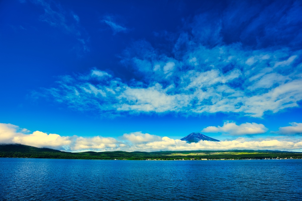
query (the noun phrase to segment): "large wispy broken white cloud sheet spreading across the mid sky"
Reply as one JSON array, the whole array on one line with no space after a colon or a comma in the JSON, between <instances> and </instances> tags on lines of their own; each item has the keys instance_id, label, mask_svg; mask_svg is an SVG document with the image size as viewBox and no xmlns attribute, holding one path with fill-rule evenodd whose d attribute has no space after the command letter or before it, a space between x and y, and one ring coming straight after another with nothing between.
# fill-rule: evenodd
<instances>
[{"instance_id":1,"label":"large wispy broken white cloud sheet spreading across the mid sky","mask_svg":"<svg viewBox=\"0 0 302 201\"><path fill-rule=\"evenodd\" d=\"M43 93L70 108L106 116L171 111L185 116L234 112L262 118L297 107L302 100L297 67L301 64L294 62L299 52L249 50L240 44L187 45L182 57L173 58L148 42L137 42L125 50L121 61L131 69L129 80L94 68L70 76L72 81L62 79Z\"/></svg>"}]
</instances>

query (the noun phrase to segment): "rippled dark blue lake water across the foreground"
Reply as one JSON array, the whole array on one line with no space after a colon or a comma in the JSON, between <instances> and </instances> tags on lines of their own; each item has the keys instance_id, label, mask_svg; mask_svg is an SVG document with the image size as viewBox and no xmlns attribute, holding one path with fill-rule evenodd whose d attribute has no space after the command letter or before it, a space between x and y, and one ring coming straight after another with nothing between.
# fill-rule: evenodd
<instances>
[{"instance_id":1,"label":"rippled dark blue lake water across the foreground","mask_svg":"<svg viewBox=\"0 0 302 201\"><path fill-rule=\"evenodd\" d=\"M0 200L302 200L302 160L0 158Z\"/></svg>"}]
</instances>

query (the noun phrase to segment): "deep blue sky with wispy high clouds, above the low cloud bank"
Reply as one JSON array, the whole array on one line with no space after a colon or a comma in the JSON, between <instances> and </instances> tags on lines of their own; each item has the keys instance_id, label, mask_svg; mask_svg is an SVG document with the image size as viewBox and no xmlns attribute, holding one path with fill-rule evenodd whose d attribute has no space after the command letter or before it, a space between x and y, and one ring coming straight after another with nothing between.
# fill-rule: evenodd
<instances>
[{"instance_id":1,"label":"deep blue sky with wispy high clouds, above the low cloud bank","mask_svg":"<svg viewBox=\"0 0 302 201\"><path fill-rule=\"evenodd\" d=\"M301 1L0 1L0 122L60 136L179 139L212 126L203 133L219 140L296 138L301 13Z\"/></svg>"}]
</instances>

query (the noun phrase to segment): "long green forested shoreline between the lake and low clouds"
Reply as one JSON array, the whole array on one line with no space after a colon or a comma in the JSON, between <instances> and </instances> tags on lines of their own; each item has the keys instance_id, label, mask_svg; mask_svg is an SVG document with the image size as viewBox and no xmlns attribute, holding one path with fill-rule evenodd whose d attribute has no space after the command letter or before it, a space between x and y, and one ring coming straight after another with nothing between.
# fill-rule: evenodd
<instances>
[{"instance_id":1,"label":"long green forested shoreline between the lake and low clouds","mask_svg":"<svg viewBox=\"0 0 302 201\"><path fill-rule=\"evenodd\" d=\"M285 151L160 151L160 152L62 152L21 144L0 145L0 157L44 159L118 159L118 160L200 160L200 159L301 159L302 152Z\"/></svg>"}]
</instances>

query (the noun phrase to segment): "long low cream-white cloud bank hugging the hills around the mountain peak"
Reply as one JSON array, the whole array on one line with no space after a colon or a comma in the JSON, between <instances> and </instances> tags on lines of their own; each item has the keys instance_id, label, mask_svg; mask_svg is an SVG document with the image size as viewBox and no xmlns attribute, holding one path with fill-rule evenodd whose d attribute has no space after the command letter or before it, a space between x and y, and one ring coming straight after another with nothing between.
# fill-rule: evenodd
<instances>
[{"instance_id":1,"label":"long low cream-white cloud bank hugging the hills around the mountain peak","mask_svg":"<svg viewBox=\"0 0 302 201\"><path fill-rule=\"evenodd\" d=\"M240 125L239 125L240 127ZM169 137L159 137L149 133L125 133L117 140L112 137L62 137L35 131L25 134L24 130L12 124L0 123L0 143L20 143L35 147L47 147L63 151L181 151L181 150L302 150L302 139L248 139L223 140L220 142L200 141L187 143Z\"/></svg>"}]
</instances>

